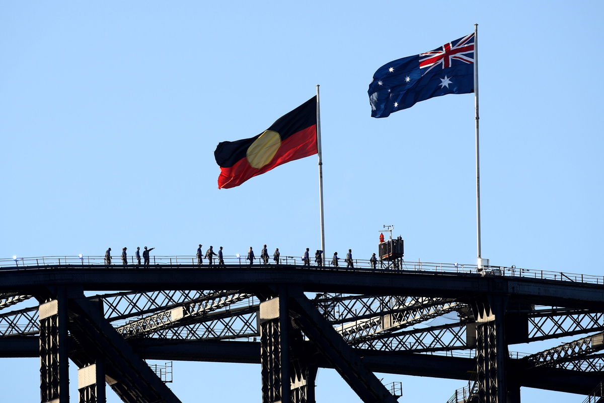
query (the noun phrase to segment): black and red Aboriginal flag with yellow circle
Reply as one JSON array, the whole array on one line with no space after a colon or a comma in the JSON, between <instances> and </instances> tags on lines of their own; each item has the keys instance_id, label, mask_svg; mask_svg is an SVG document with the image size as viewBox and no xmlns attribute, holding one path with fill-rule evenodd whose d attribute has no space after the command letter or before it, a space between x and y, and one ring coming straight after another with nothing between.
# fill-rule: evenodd
<instances>
[{"instance_id":1,"label":"black and red Aboriginal flag with yellow circle","mask_svg":"<svg viewBox=\"0 0 604 403\"><path fill-rule=\"evenodd\" d=\"M239 186L252 176L316 153L316 97L312 97L257 136L219 143L214 151L220 166L218 189Z\"/></svg>"}]
</instances>

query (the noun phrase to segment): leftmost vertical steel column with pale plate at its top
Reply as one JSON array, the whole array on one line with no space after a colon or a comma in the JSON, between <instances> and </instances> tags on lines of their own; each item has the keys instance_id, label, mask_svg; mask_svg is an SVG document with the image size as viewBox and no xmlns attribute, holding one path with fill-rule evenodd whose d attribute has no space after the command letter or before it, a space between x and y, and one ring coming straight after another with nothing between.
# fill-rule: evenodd
<instances>
[{"instance_id":1,"label":"leftmost vertical steel column with pale plate at its top","mask_svg":"<svg viewBox=\"0 0 604 403\"><path fill-rule=\"evenodd\" d=\"M40 304L40 402L69 403L67 297Z\"/></svg>"}]
</instances>

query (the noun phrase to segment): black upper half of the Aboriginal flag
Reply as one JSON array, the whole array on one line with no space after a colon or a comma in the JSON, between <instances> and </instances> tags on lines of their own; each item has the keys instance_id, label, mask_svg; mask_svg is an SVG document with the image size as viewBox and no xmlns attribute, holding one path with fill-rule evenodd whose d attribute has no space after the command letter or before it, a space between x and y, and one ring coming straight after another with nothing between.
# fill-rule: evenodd
<instances>
[{"instance_id":1,"label":"black upper half of the Aboriginal flag","mask_svg":"<svg viewBox=\"0 0 604 403\"><path fill-rule=\"evenodd\" d=\"M316 124L316 96L310 98L302 105L298 106L291 112L288 112L278 118L275 123L266 129L266 131L277 132L281 141L284 141L289 136L300 132L307 127ZM264 132L262 132L264 133ZM254 137L244 138L237 141L222 141L214 151L214 158L220 167L231 167L237 161L246 157L246 153L250 144L262 135L262 133Z\"/></svg>"}]
</instances>

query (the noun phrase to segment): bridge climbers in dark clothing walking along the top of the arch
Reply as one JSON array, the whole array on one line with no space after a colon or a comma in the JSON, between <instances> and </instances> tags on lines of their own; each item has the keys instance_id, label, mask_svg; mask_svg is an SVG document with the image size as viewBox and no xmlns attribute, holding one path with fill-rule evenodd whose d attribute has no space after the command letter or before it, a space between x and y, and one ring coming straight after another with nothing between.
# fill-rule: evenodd
<instances>
[{"instance_id":1,"label":"bridge climbers in dark clothing walking along the top of the arch","mask_svg":"<svg viewBox=\"0 0 604 403\"><path fill-rule=\"evenodd\" d=\"M218 253L214 252L214 247L210 246L210 248L208 248L207 251L205 251L205 254L202 251L202 245L201 243L199 243L199 247L197 248L197 264L198 265L202 265L203 261L204 261L204 257L205 259L208 260L208 265L209 266L213 266L214 262L216 260L216 258L214 258L214 256L217 256L218 259L218 263L217 266L218 267L223 267L225 266L225 261L224 261L224 257L222 254L222 247L219 248ZM121 263L123 266L127 266L128 265L128 260L127 260L127 251L128 248L123 247L121 248ZM149 266L149 252L154 250L155 248L150 248L148 249L147 247L144 247L144 251L143 251L143 266ZM141 265L141 253L140 253L141 248L137 247L137 252L135 253L135 256L137 257L137 265L140 266ZM303 262L303 266L306 267L310 267L310 249L306 248L306 251L304 251L304 255L302 257L302 262ZM279 252L279 248L275 248L274 253L272 254L272 260L274 260L275 264L278 265L280 262L280 256L281 253ZM249 251L248 251L248 257L246 260L249 261L249 265L253 265L254 264L254 259L255 259L255 255L254 255L254 250L252 249L252 247L249 247ZM266 245L264 245L262 247L262 252L260 252L260 259L262 259L262 263L265 265L268 265L269 263L269 254L268 254L268 250L266 249ZM338 256L338 252L334 252L333 253L333 257L332 257L332 266L334 267L339 267L339 260L341 258ZM346 267L347 268L355 268L355 264L353 262L352 259L352 249L348 250L348 253L346 254L346 257L344 259L344 262L346 263ZM371 267L372 268L376 268L377 266L377 257L376 254L374 253L371 258L369 259L369 262L371 263ZM315 263L317 266L323 266L323 251L322 250L316 250L315 252ZM108 248L108 250L105 252L105 264L106 265L111 265L111 248Z\"/></svg>"}]
</instances>

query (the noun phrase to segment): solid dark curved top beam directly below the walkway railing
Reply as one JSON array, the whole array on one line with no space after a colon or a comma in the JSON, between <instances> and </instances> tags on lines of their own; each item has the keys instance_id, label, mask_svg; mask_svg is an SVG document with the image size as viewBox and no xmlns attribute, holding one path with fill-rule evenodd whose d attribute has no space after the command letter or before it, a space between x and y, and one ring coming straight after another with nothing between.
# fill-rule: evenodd
<instances>
[{"instance_id":1,"label":"solid dark curved top beam directly below the walkway railing","mask_svg":"<svg viewBox=\"0 0 604 403\"><path fill-rule=\"evenodd\" d=\"M423 295L464 298L467 295L509 295L526 304L599 308L604 303L604 285L527 277L480 276L448 272L330 271L302 266L247 266L203 269L194 265L175 268L79 268L57 265L47 269L11 272L0 284L0 292L22 290L31 294L39 286L79 285L86 291L108 289L246 289L263 284L288 285L291 279L304 292L346 292L349 294ZM28 291L29 290L29 291Z\"/></svg>"}]
</instances>

